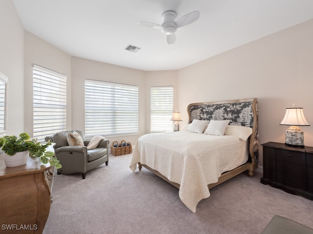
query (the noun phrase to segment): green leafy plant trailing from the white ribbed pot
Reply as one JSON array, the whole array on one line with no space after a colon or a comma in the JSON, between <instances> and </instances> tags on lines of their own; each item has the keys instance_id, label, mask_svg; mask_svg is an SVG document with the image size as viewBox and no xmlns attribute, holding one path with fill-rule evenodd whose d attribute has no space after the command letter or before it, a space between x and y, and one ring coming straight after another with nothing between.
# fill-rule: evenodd
<instances>
[{"instance_id":1,"label":"green leafy plant trailing from the white ribbed pot","mask_svg":"<svg viewBox=\"0 0 313 234\"><path fill-rule=\"evenodd\" d=\"M17 152L29 151L29 156L39 157L44 164L48 162L57 169L62 165L52 151L46 151L46 148L51 145L51 142L40 143L35 139L30 139L27 133L21 133L17 136L3 136L0 137L1 150L7 155L13 156Z\"/></svg>"}]
</instances>

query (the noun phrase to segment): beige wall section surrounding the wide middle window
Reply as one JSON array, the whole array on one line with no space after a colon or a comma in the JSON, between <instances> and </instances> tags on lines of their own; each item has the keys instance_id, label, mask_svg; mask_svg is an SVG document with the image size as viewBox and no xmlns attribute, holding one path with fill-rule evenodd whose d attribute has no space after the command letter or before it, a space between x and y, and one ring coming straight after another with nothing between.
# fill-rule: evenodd
<instances>
[{"instance_id":1,"label":"beige wall section surrounding the wide middle window","mask_svg":"<svg viewBox=\"0 0 313 234\"><path fill-rule=\"evenodd\" d=\"M113 140L130 141L135 144L137 138L145 134L145 72L131 68L72 57L72 128L85 128L85 79L137 85L139 92L139 135L104 136Z\"/></svg>"}]
</instances>

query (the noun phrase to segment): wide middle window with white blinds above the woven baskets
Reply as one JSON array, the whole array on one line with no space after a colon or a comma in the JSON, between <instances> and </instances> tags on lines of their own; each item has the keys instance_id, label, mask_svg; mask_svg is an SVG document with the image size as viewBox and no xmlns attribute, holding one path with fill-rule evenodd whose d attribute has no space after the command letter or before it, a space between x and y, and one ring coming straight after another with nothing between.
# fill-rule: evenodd
<instances>
[{"instance_id":1,"label":"wide middle window with white blinds above the woven baskets","mask_svg":"<svg viewBox=\"0 0 313 234\"><path fill-rule=\"evenodd\" d=\"M85 135L138 133L138 86L85 80Z\"/></svg>"}]
</instances>

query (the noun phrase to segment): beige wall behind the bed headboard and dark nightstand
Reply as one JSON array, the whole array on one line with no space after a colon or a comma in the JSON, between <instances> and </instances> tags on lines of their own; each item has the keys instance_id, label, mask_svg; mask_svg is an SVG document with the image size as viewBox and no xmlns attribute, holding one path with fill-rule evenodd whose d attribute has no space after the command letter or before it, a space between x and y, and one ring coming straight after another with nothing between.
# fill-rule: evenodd
<instances>
[{"instance_id":1,"label":"beige wall behind the bed headboard and dark nightstand","mask_svg":"<svg viewBox=\"0 0 313 234\"><path fill-rule=\"evenodd\" d=\"M285 108L303 107L313 125L313 20L179 70L179 109L192 102L258 98L259 143L285 142ZM313 127L302 127L313 145ZM263 165L260 147L259 165Z\"/></svg>"}]
</instances>

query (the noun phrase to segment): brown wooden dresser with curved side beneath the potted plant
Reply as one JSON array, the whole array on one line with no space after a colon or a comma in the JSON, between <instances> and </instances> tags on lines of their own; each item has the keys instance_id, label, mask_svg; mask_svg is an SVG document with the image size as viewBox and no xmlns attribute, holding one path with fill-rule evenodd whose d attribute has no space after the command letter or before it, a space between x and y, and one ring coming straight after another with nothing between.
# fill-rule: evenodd
<instances>
[{"instance_id":1,"label":"brown wooden dresser with curved side beneath the potted plant","mask_svg":"<svg viewBox=\"0 0 313 234\"><path fill-rule=\"evenodd\" d=\"M39 158L6 167L0 155L0 233L41 234L47 221L53 170Z\"/></svg>"}]
</instances>

